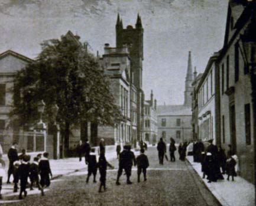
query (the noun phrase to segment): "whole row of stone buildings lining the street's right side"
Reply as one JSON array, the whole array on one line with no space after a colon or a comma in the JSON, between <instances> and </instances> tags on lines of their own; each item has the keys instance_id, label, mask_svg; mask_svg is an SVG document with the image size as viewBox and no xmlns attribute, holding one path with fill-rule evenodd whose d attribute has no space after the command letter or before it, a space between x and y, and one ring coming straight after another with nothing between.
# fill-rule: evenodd
<instances>
[{"instance_id":1,"label":"whole row of stone buildings lining the street's right side","mask_svg":"<svg viewBox=\"0 0 256 206\"><path fill-rule=\"evenodd\" d=\"M238 173L250 182L255 178L255 7L253 1L229 1L223 47L210 57L196 88L199 138L213 139L225 151L231 145ZM209 86L211 79L215 85Z\"/></svg>"}]
</instances>

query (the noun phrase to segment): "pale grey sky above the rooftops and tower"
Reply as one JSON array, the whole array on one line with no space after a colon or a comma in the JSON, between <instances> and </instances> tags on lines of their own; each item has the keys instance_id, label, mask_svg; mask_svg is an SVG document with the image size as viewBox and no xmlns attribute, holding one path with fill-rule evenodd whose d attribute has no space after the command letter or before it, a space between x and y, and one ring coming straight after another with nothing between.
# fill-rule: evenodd
<instances>
[{"instance_id":1,"label":"pale grey sky above the rooftops and tower","mask_svg":"<svg viewBox=\"0 0 256 206\"><path fill-rule=\"evenodd\" d=\"M102 55L105 43L115 47L118 12L124 27L135 27L139 12L145 99L153 90L158 104L182 104L189 51L202 73L222 48L227 10L228 0L1 0L0 52L35 58L41 42L70 30Z\"/></svg>"}]
</instances>

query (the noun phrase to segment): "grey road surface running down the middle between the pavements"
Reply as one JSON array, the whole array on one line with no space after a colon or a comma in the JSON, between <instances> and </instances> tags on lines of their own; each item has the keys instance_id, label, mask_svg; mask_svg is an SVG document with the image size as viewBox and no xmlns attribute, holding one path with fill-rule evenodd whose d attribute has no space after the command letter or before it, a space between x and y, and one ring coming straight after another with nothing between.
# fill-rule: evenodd
<instances>
[{"instance_id":1,"label":"grey road surface running down the middle between the pavements","mask_svg":"<svg viewBox=\"0 0 256 206\"><path fill-rule=\"evenodd\" d=\"M28 196L22 201L18 201L18 193L15 197L5 197L18 201L6 205L219 205L188 162L165 159L164 165L159 165L156 148L148 148L146 154L150 161L146 182L141 175L141 182L137 183L134 167L133 184L127 185L126 176L122 175L121 185L116 186L118 161L114 159L110 163L115 169L107 172L105 192L98 192L99 174L97 183L93 183L91 176L86 184L87 171L79 171L54 180L44 197L37 190L31 194L27 189Z\"/></svg>"}]
</instances>

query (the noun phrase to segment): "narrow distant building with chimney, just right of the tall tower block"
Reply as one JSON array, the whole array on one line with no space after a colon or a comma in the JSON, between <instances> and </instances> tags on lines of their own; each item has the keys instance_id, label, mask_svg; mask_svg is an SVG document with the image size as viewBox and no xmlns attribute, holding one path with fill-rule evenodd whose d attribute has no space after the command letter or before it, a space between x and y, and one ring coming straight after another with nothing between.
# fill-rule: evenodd
<instances>
[{"instance_id":1,"label":"narrow distant building with chimney, just right of the tall tower block","mask_svg":"<svg viewBox=\"0 0 256 206\"><path fill-rule=\"evenodd\" d=\"M157 100L151 90L150 100L144 102L144 141L154 144L157 141Z\"/></svg>"}]
</instances>

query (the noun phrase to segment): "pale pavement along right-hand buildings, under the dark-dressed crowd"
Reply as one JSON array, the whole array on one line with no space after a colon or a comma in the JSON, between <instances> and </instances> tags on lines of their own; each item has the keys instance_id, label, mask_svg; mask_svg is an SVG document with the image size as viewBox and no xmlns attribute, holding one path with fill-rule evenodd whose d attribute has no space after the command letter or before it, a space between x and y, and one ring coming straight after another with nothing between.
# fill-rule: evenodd
<instances>
[{"instance_id":1,"label":"pale pavement along right-hand buildings, under the dark-dressed crowd","mask_svg":"<svg viewBox=\"0 0 256 206\"><path fill-rule=\"evenodd\" d=\"M218 182L208 183L208 179L203 179L201 172L201 164L193 162L193 156L187 156L187 161L192 165L197 174L205 183L206 187L212 194L221 202L222 205L227 206L251 206L255 205L255 187L240 176L235 176L235 181L228 181L227 175L223 175L223 180ZM229 178L231 179L231 178Z\"/></svg>"}]
</instances>

